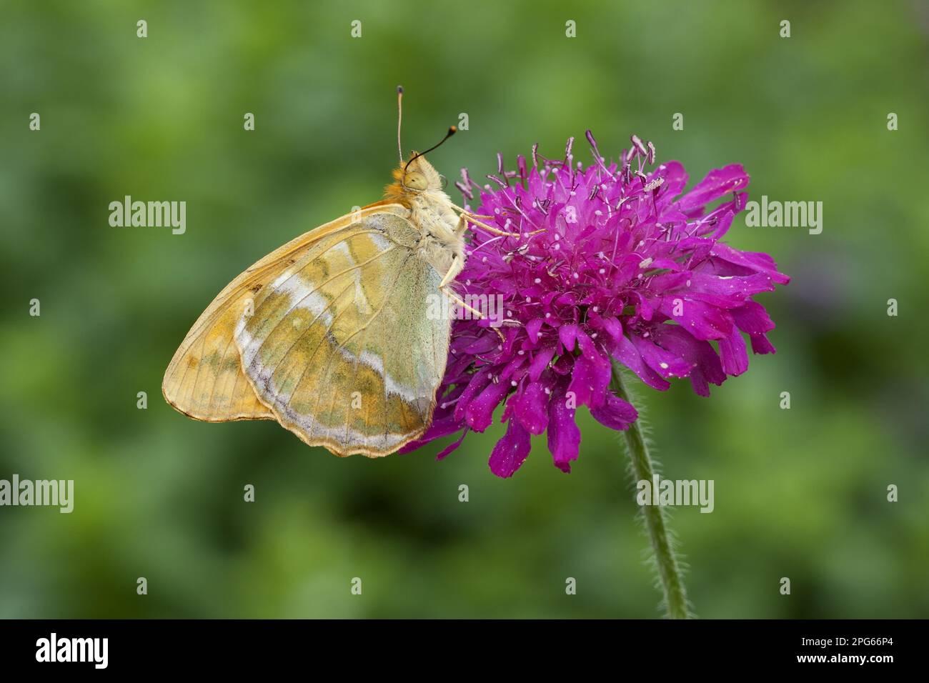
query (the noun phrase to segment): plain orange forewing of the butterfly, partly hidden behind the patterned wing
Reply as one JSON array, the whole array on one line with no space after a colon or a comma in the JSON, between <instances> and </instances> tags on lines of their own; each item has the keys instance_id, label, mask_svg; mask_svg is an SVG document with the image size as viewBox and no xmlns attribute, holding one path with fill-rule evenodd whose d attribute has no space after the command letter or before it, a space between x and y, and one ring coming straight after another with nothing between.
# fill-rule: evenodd
<instances>
[{"instance_id":1,"label":"plain orange forewing of the butterfly, partly hidden behind the patterned wing","mask_svg":"<svg viewBox=\"0 0 929 683\"><path fill-rule=\"evenodd\" d=\"M162 383L165 401L183 414L210 422L274 419L242 374L233 339L236 325L243 313L254 309L255 296L314 244L384 211L405 210L399 204L378 203L337 218L284 244L229 282L194 322L168 364Z\"/></svg>"}]
</instances>

